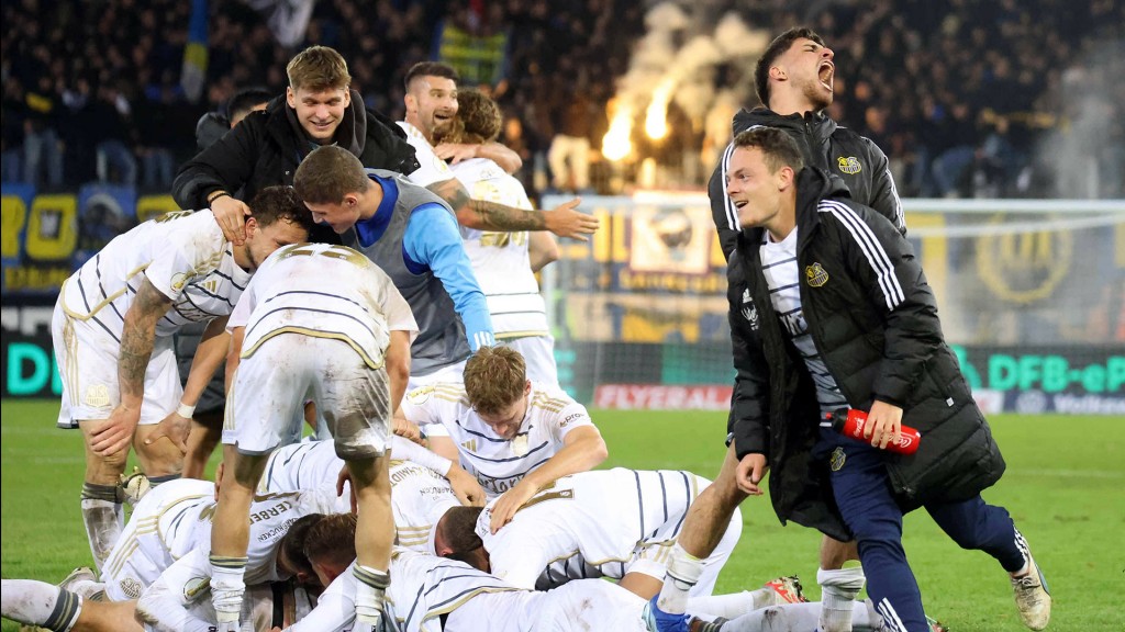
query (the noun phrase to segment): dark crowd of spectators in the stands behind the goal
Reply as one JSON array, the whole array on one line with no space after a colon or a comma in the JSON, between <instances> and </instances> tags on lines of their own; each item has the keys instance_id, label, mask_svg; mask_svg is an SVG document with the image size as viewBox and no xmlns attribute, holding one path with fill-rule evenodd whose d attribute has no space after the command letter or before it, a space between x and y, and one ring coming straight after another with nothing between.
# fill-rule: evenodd
<instances>
[{"instance_id":1,"label":"dark crowd of spectators in the stands behind the goal","mask_svg":"<svg viewBox=\"0 0 1125 632\"><path fill-rule=\"evenodd\" d=\"M698 11L726 9L735 3ZM903 197L1125 195L1125 94L1112 80L1122 55L1105 54L1119 53L1125 35L1118 2L828 0L737 10L768 33L809 24L846 60L829 115L884 148ZM590 186L604 190L595 153L614 80L644 34L642 11L621 0L321 1L300 46L340 49L367 105L400 118L403 74L438 51L443 25L502 35L505 61L489 83L507 118L502 139L528 165L519 177L531 192L552 186L552 139L583 137L594 160ZM249 84L284 88L297 47L278 44L245 3L215 0L206 92L188 101L180 73L189 13L190 3L172 0L6 2L3 180L166 187L195 148L192 124L204 111ZM749 74L724 76L749 82ZM698 141L691 151L701 128L696 121L688 133ZM1076 147L1073 155L1060 146Z\"/></svg>"}]
</instances>

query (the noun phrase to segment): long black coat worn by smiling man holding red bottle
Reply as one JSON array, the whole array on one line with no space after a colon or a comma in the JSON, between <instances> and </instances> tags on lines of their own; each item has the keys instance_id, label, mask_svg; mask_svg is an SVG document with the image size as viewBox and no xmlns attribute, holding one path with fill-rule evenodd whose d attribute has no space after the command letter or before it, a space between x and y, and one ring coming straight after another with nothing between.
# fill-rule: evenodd
<instances>
[{"instance_id":1,"label":"long black coat worn by smiling man holding red bottle","mask_svg":"<svg viewBox=\"0 0 1125 632\"><path fill-rule=\"evenodd\" d=\"M911 509L963 500L999 480L1004 459L942 335L937 305L910 243L881 215L837 197L828 175L798 177L796 259L808 331L853 408L880 399L921 432L914 455L886 452L894 494ZM728 265L735 392L728 430L738 458L765 454L774 511L848 539L828 459L814 459L812 378L782 329L762 273L762 228L739 233Z\"/></svg>"}]
</instances>

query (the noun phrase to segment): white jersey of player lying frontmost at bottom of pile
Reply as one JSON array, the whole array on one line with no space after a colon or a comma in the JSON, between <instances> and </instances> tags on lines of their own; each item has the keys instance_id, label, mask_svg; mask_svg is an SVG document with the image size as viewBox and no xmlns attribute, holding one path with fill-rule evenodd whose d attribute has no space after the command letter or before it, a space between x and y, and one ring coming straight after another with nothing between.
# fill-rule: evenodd
<instances>
[{"instance_id":1,"label":"white jersey of player lying frontmost at bottom of pile","mask_svg":"<svg viewBox=\"0 0 1125 632\"><path fill-rule=\"evenodd\" d=\"M342 632L350 630L356 617L356 565L348 567L321 594L316 607L286 632ZM525 632L531 630L534 610L520 608L524 602L537 602L540 593L519 590L487 572L444 558L425 556L396 547L390 553L390 577L387 587L387 629L395 632L442 632L441 615L465 607L480 595L504 593L505 608L477 608L480 614L472 630L489 632ZM522 611L522 616L511 616ZM453 632L447 625L444 630ZM464 630L464 629L462 629Z\"/></svg>"}]
</instances>

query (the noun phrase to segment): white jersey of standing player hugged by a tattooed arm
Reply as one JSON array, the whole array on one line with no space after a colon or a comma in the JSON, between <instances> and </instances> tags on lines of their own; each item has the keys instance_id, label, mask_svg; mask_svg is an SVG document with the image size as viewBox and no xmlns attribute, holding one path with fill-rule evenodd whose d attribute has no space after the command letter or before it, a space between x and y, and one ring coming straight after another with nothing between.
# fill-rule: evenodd
<instances>
[{"instance_id":1,"label":"white jersey of standing player hugged by a tattooed arm","mask_svg":"<svg viewBox=\"0 0 1125 632\"><path fill-rule=\"evenodd\" d=\"M533 210L519 180L488 159L452 168L475 200ZM528 259L528 233L493 233L461 227L465 252L488 300L496 340L547 335L547 307Z\"/></svg>"}]
</instances>

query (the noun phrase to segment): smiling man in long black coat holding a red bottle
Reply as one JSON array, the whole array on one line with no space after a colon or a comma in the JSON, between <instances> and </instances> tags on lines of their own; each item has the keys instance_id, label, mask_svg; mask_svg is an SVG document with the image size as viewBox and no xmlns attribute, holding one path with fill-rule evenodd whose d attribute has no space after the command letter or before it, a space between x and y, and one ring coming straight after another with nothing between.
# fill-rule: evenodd
<instances>
[{"instance_id":1,"label":"smiling man in long black coat holding a red bottle","mask_svg":"<svg viewBox=\"0 0 1125 632\"><path fill-rule=\"evenodd\" d=\"M728 269L731 442L717 491L692 505L684 534L693 538L681 535L654 608L683 602L676 585L699 576L692 557L705 553L708 523L722 524L746 496L760 495L772 469L783 522L855 536L867 594L890 630L929 630L902 548L902 516L919 507L962 548L996 558L1024 623L1042 630L1051 596L1008 512L981 498L1004 459L942 336L910 244L802 163L776 128L735 137L727 190L746 229ZM818 423L840 398L870 410L862 441ZM883 450L902 425L924 437L909 457ZM662 631L677 629L675 617L658 620Z\"/></svg>"}]
</instances>

